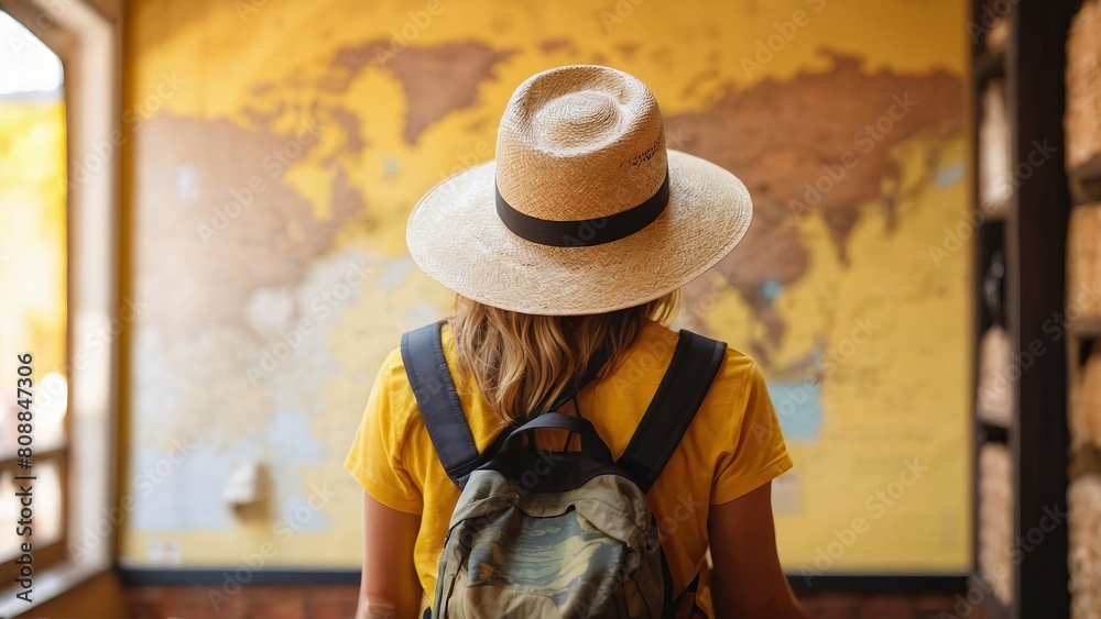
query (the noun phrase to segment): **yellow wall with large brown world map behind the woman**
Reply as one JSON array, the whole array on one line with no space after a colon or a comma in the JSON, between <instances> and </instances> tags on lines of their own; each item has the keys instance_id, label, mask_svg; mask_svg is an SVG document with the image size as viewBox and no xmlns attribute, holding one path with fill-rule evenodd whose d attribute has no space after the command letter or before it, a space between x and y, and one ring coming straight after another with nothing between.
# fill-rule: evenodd
<instances>
[{"instance_id":1,"label":"yellow wall with large brown world map behind the woman","mask_svg":"<svg viewBox=\"0 0 1101 619\"><path fill-rule=\"evenodd\" d=\"M962 0L133 2L122 560L358 563L340 462L385 353L450 302L410 263L405 218L492 156L520 81L598 63L754 195L754 231L683 321L757 357L777 408L822 410L809 430L817 413L784 416L807 433L777 497L787 567L865 518L827 567L964 568L969 254L929 253L968 207L963 18ZM860 133L907 96L882 140ZM819 205L793 203L847 153ZM913 458L929 471L870 507ZM248 461L268 500L233 513L219 496Z\"/></svg>"}]
</instances>

